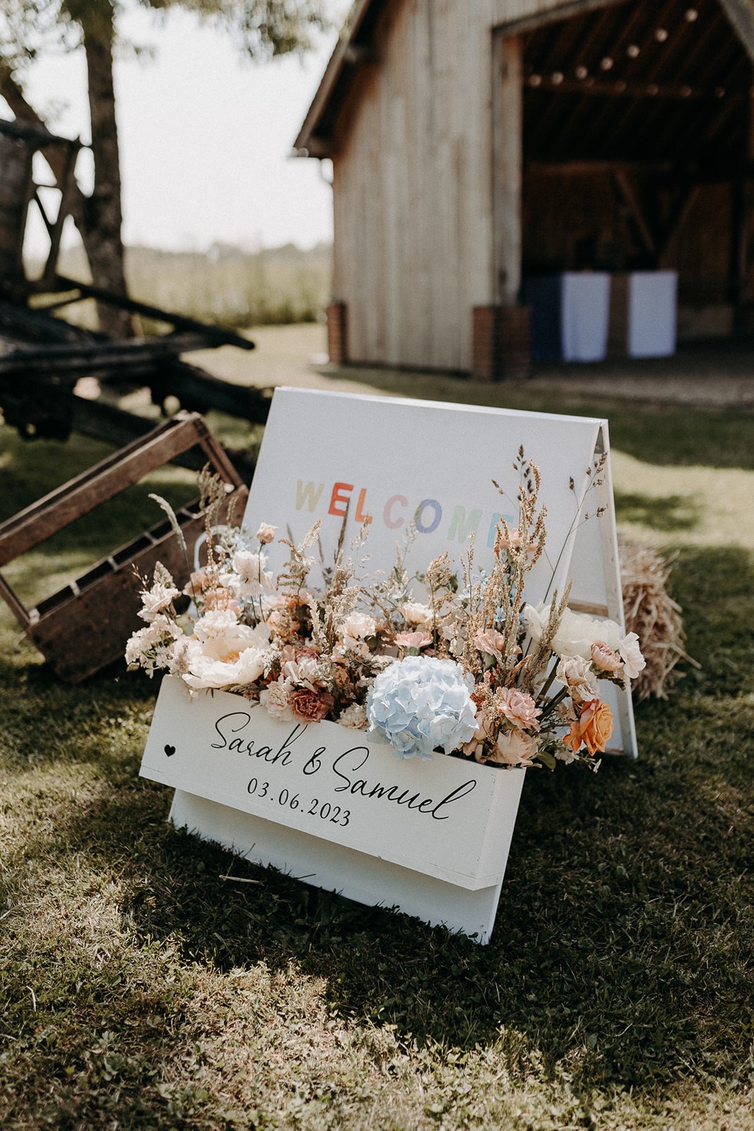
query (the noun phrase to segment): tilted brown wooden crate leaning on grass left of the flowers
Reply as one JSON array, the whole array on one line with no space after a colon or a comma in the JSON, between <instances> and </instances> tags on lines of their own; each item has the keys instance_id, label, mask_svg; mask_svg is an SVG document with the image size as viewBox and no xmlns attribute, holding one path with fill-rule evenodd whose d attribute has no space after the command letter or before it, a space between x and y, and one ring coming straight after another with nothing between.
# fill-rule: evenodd
<instances>
[{"instance_id":1,"label":"tilted brown wooden crate leaning on grass left of the flowers","mask_svg":"<svg viewBox=\"0 0 754 1131\"><path fill-rule=\"evenodd\" d=\"M226 521L231 515L240 523L246 487L201 416L179 413L0 525L0 568L191 448L199 448L227 484L227 501L217 521ZM194 543L205 529L198 502L184 507L176 517L191 561ZM187 584L185 558L167 520L114 550L34 608L26 608L1 575L0 596L55 673L77 683L122 657L129 636L140 625L135 569L149 577L157 561L171 571L179 587Z\"/></svg>"}]
</instances>

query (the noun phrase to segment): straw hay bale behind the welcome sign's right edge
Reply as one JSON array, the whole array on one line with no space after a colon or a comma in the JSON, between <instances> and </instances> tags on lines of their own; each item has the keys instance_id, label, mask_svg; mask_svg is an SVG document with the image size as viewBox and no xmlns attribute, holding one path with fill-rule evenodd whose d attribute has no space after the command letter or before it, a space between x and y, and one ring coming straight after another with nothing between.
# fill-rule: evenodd
<instances>
[{"instance_id":1,"label":"straw hay bale behind the welcome sign's right edge","mask_svg":"<svg viewBox=\"0 0 754 1131\"><path fill-rule=\"evenodd\" d=\"M700 666L684 648L683 610L666 588L673 559L624 535L618 536L618 550L626 632L636 633L647 661L632 690L638 699L667 699L669 687L683 674L675 670L678 661Z\"/></svg>"}]
</instances>

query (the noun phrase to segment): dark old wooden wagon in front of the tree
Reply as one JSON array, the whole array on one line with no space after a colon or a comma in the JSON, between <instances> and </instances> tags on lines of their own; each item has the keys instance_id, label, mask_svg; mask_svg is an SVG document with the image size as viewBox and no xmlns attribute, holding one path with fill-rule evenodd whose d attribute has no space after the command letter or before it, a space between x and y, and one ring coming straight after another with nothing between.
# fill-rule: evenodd
<instances>
[{"instance_id":1,"label":"dark old wooden wagon in front of the tree","mask_svg":"<svg viewBox=\"0 0 754 1131\"><path fill-rule=\"evenodd\" d=\"M61 152L62 159L54 162L54 183L42 184L35 180L34 158L38 153L49 155L51 149ZM129 443L149 431L153 422L144 417L106 400L75 396L79 378L86 375L96 375L102 386L119 389L146 387L161 405L173 397L188 411L214 408L263 423L269 392L220 381L180 357L222 345L253 349L249 338L59 274L60 242L70 215L80 149L78 140L0 120L0 408L6 423L26 439L64 439L76 429L115 444ZM58 196L54 209L42 196L53 189ZM33 279L27 277L23 259L32 202L50 239L42 273ZM40 305L41 296L45 296L44 307ZM87 299L163 322L170 331L113 340L54 317L63 307ZM243 470L251 474L248 465Z\"/></svg>"}]
</instances>

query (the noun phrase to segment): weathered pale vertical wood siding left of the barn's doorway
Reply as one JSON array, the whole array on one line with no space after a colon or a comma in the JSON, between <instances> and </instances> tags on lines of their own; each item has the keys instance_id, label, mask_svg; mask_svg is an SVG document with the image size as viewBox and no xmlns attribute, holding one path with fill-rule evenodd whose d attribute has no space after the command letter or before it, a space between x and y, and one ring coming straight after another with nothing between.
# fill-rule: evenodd
<instances>
[{"instance_id":1,"label":"weathered pale vertical wood siding left of the barn's doorway","mask_svg":"<svg viewBox=\"0 0 754 1131\"><path fill-rule=\"evenodd\" d=\"M388 6L379 61L349 100L333 156L333 299L348 305L353 361L470 368L471 308L500 287L493 28L561 7L573 5Z\"/></svg>"}]
</instances>

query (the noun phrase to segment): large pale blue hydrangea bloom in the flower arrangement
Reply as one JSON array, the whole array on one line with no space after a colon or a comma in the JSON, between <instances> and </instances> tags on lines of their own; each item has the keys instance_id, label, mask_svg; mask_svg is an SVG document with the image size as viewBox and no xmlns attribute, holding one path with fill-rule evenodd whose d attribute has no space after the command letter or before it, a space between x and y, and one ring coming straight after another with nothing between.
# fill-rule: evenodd
<instances>
[{"instance_id":1,"label":"large pale blue hydrangea bloom in the flower arrangement","mask_svg":"<svg viewBox=\"0 0 754 1131\"><path fill-rule=\"evenodd\" d=\"M407 656L378 675L366 699L371 729L399 758L432 758L469 742L476 729L471 676L454 659Z\"/></svg>"}]
</instances>

